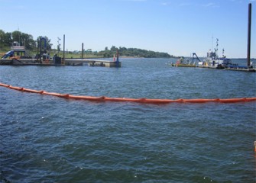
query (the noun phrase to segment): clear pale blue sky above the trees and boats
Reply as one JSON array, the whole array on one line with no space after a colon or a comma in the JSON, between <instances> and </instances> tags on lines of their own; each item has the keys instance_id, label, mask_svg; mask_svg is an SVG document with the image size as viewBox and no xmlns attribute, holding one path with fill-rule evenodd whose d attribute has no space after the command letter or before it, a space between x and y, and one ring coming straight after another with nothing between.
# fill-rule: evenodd
<instances>
[{"instance_id":1,"label":"clear pale blue sky above the trees and boats","mask_svg":"<svg viewBox=\"0 0 256 183\"><path fill-rule=\"evenodd\" d=\"M57 37L65 50L112 46L173 56L206 56L219 40L219 56L245 58L248 4L251 57L256 58L256 0L0 0L0 29L19 30L34 40Z\"/></svg>"}]
</instances>

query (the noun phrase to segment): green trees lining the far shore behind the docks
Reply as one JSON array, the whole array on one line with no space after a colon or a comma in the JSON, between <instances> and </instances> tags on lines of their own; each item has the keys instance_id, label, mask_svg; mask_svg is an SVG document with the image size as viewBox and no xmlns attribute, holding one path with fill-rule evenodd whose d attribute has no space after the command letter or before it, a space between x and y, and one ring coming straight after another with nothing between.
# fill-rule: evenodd
<instances>
[{"instance_id":1,"label":"green trees lining the far shore behind the docks","mask_svg":"<svg viewBox=\"0 0 256 183\"><path fill-rule=\"evenodd\" d=\"M21 31L15 30L13 32L5 32L4 30L0 30L0 48L2 47L11 47L11 43L14 41L18 41L21 46L26 47L28 50L37 50L37 44L42 37L37 37L34 40L31 34L25 34ZM47 50L52 49L52 43L50 43L50 39L44 36L46 39ZM57 46L57 49L60 50L60 45ZM145 57L145 58L170 58L173 57L168 53L162 52L154 52L151 50L142 50L138 48L126 48L126 47L115 47L112 46L110 49L105 47L105 50L99 52L90 52L92 55L102 56L105 58L110 58L116 54L116 50L118 49L119 56L137 56L137 57Z\"/></svg>"}]
</instances>

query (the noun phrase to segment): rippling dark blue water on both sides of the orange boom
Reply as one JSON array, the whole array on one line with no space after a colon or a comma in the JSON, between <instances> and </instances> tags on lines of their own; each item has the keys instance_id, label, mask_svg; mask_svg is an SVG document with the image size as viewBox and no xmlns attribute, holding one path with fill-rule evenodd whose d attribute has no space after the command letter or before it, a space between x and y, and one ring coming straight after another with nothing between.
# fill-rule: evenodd
<instances>
[{"instance_id":1,"label":"rippling dark blue water on both sides of the orange boom","mask_svg":"<svg viewBox=\"0 0 256 183\"><path fill-rule=\"evenodd\" d=\"M173 68L170 61L122 59L122 68L0 66L0 82L125 98L256 95L255 73ZM1 182L255 181L255 102L91 102L3 87L0 102Z\"/></svg>"}]
</instances>

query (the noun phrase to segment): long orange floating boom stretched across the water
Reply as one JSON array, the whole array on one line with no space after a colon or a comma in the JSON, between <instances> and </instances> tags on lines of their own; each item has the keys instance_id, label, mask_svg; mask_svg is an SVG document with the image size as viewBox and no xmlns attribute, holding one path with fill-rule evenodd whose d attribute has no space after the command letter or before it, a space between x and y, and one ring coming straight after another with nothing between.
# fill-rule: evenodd
<instances>
[{"instance_id":1,"label":"long orange floating boom stretched across the water","mask_svg":"<svg viewBox=\"0 0 256 183\"><path fill-rule=\"evenodd\" d=\"M0 86L15 89L21 92L31 92L31 93L39 93L41 95L52 95L55 97L66 98L66 99L76 99L76 100L86 100L86 101L126 101L126 102L137 102L142 104L170 104L170 103L207 103L207 102L219 102L219 103L236 103L236 102L248 102L248 101L256 101L256 98L214 98L214 99L207 99L207 98L196 98L196 99L150 99L150 98L108 98L105 96L101 97L92 97L92 96L76 96L76 95L69 95L69 94L60 94L54 92L45 92L44 90L32 90L28 88L21 88L17 86L5 85L0 83Z\"/></svg>"}]
</instances>

